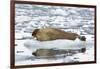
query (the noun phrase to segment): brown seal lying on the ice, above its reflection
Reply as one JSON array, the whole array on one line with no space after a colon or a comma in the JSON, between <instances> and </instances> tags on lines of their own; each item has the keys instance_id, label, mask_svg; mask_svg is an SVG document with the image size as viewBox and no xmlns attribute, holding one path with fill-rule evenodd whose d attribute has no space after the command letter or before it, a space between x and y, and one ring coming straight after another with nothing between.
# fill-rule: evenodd
<instances>
[{"instance_id":1,"label":"brown seal lying on the ice, above its reflection","mask_svg":"<svg viewBox=\"0 0 100 69\"><path fill-rule=\"evenodd\" d=\"M56 28L35 29L32 32L32 36L36 37L36 39L39 41L49 41L56 39L75 40L76 38L79 38L81 41L86 41L85 36L80 36L72 32L65 32Z\"/></svg>"}]
</instances>

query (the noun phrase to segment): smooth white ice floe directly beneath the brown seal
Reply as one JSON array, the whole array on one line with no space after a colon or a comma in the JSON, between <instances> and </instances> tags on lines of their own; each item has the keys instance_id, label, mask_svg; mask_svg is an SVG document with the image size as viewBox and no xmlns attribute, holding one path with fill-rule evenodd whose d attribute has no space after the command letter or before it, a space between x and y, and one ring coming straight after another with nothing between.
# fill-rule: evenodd
<instances>
[{"instance_id":1,"label":"smooth white ice floe directly beneath the brown seal","mask_svg":"<svg viewBox=\"0 0 100 69\"><path fill-rule=\"evenodd\" d=\"M84 41L58 39L52 41L37 41L28 40L24 43L24 46L29 50L34 49L81 49L85 48Z\"/></svg>"}]
</instances>

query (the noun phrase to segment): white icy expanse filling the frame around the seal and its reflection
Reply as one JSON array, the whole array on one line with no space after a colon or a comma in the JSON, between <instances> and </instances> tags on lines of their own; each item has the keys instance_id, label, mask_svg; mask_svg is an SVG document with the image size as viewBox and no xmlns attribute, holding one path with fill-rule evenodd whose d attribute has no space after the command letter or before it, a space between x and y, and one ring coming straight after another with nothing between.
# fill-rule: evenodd
<instances>
[{"instance_id":1,"label":"white icy expanse filling the frame around the seal and its reflection","mask_svg":"<svg viewBox=\"0 0 100 69\"><path fill-rule=\"evenodd\" d=\"M32 38L31 33L35 28L60 28L64 31L75 32L86 37L85 53L72 56L62 56L52 59L39 59L32 55L32 50L25 47L34 45L33 48L46 47L63 48L69 40L54 40L39 42ZM82 44L79 40L71 41L73 44ZM40 45L41 44L41 45ZM57 47L59 46L59 47ZM82 46L82 45L81 45ZM69 43L70 47L70 43ZM78 47L78 46L77 46ZM83 47L83 46L82 46ZM68 48L68 46L66 47ZM36 51L36 49L34 49ZM60 6L42 6L29 4L15 5L15 64L47 64L70 62L94 61L94 9Z\"/></svg>"}]
</instances>

